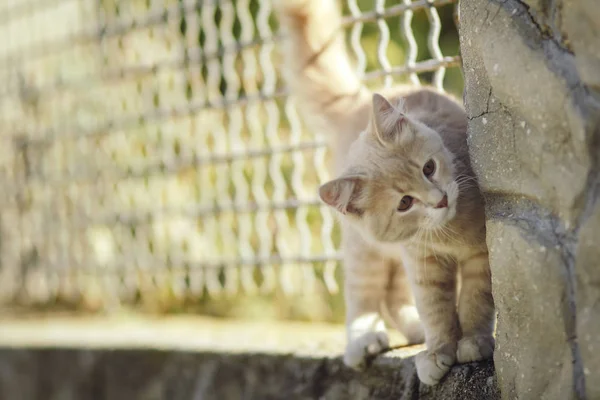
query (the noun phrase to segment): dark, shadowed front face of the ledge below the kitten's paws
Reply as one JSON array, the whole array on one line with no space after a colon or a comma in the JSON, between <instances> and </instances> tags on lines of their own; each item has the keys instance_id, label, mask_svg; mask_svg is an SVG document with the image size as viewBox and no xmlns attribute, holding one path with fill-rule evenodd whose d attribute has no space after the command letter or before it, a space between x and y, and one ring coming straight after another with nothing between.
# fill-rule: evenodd
<instances>
[{"instance_id":1,"label":"dark, shadowed front face of the ledge below the kitten's paws","mask_svg":"<svg viewBox=\"0 0 600 400\"><path fill-rule=\"evenodd\" d=\"M363 373L339 358L158 350L0 349L0 399L496 400L491 362L456 366L436 387L412 359Z\"/></svg>"}]
</instances>

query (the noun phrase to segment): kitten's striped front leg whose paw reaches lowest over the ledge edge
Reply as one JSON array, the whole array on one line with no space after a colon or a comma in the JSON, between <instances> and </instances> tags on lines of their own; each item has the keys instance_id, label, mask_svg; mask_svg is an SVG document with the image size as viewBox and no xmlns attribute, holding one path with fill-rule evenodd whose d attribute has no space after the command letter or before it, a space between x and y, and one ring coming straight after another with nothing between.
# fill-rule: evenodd
<instances>
[{"instance_id":1,"label":"kitten's striped front leg whose paw reaches lowest over the ledge edge","mask_svg":"<svg viewBox=\"0 0 600 400\"><path fill-rule=\"evenodd\" d=\"M456 362L461 337L456 313L456 266L440 263L435 257L407 257L404 261L427 344L427 350L415 356L417 375L421 382L435 385Z\"/></svg>"}]
</instances>

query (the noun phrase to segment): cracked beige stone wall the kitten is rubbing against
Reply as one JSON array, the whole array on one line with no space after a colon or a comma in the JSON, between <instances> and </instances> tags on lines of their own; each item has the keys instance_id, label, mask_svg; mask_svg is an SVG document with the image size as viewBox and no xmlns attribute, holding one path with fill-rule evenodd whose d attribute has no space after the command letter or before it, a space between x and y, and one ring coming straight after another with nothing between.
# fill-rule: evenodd
<instances>
[{"instance_id":1,"label":"cracked beige stone wall the kitten is rubbing against","mask_svg":"<svg viewBox=\"0 0 600 400\"><path fill-rule=\"evenodd\" d=\"M461 0L504 399L600 398L600 7Z\"/></svg>"}]
</instances>

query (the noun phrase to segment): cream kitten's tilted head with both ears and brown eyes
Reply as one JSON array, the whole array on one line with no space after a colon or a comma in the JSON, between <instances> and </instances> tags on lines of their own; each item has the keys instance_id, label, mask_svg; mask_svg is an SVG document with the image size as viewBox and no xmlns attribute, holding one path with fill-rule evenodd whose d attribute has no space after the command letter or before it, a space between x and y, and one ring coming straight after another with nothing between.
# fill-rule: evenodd
<instances>
[{"instance_id":1,"label":"cream kitten's tilted head with both ears and brown eyes","mask_svg":"<svg viewBox=\"0 0 600 400\"><path fill-rule=\"evenodd\" d=\"M456 215L452 153L402 102L373 95L372 118L350 149L345 172L319 188L326 204L380 242L443 229Z\"/></svg>"}]
</instances>

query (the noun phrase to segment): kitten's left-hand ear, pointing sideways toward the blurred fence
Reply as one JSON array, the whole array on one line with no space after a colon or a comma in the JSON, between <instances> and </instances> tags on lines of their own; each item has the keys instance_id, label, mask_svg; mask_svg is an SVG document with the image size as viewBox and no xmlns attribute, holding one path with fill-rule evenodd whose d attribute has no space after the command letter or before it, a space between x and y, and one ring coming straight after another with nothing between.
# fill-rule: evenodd
<instances>
[{"instance_id":1,"label":"kitten's left-hand ear, pointing sideways toward the blurred fence","mask_svg":"<svg viewBox=\"0 0 600 400\"><path fill-rule=\"evenodd\" d=\"M364 189L364 178L345 176L324 183L319 188L319 197L330 207L340 213L361 215L362 210L357 206L357 199Z\"/></svg>"}]
</instances>

